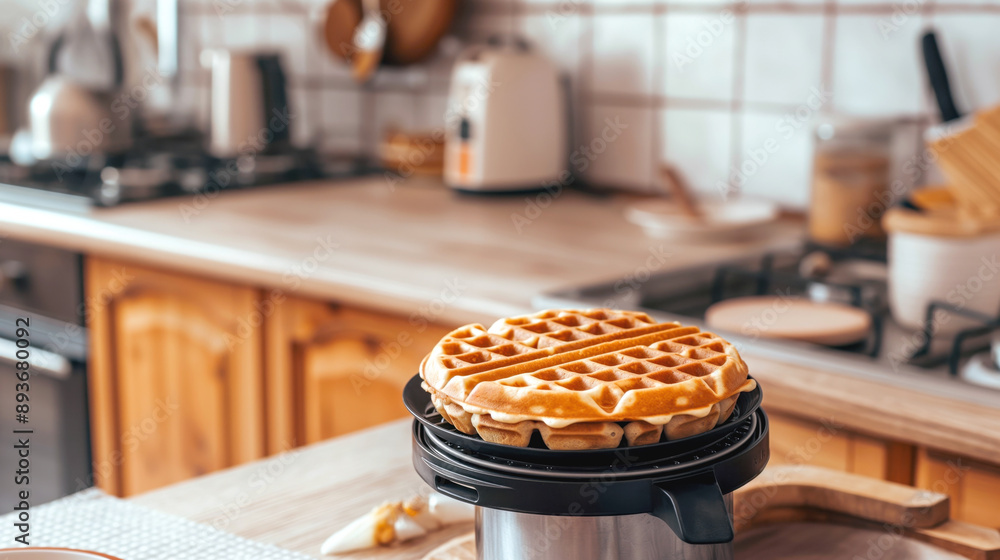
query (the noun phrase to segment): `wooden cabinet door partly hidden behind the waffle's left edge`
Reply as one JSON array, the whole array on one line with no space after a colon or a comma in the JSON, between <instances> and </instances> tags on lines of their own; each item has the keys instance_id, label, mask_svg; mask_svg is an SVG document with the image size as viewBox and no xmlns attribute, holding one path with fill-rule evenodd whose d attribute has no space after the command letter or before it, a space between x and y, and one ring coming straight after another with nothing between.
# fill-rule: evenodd
<instances>
[{"instance_id":1,"label":"wooden cabinet door partly hidden behind the waffle's left edge","mask_svg":"<svg viewBox=\"0 0 1000 560\"><path fill-rule=\"evenodd\" d=\"M268 323L268 448L277 452L407 415L403 386L451 329L289 298Z\"/></svg>"}]
</instances>

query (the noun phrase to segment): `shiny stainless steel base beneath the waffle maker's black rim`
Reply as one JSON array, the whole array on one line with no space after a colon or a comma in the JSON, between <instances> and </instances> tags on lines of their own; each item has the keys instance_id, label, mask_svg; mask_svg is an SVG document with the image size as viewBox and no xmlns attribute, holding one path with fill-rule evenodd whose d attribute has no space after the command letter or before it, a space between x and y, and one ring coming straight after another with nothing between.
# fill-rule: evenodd
<instances>
[{"instance_id":1,"label":"shiny stainless steel base beneath the waffle maker's black rim","mask_svg":"<svg viewBox=\"0 0 1000 560\"><path fill-rule=\"evenodd\" d=\"M595 485L595 491L599 488ZM732 515L733 498L726 503ZM582 498L581 498L582 499ZM732 560L732 543L692 545L652 515L556 516L476 508L478 560Z\"/></svg>"}]
</instances>

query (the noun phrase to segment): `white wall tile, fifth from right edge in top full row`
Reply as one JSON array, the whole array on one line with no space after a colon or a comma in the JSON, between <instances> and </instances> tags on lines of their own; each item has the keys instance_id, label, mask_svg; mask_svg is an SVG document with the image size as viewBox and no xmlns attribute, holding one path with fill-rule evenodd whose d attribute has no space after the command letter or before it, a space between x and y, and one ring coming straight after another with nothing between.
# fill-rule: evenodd
<instances>
[{"instance_id":1,"label":"white wall tile, fifth from right edge in top full row","mask_svg":"<svg viewBox=\"0 0 1000 560\"><path fill-rule=\"evenodd\" d=\"M655 18L609 13L594 18L590 89L596 93L653 93Z\"/></svg>"}]
</instances>

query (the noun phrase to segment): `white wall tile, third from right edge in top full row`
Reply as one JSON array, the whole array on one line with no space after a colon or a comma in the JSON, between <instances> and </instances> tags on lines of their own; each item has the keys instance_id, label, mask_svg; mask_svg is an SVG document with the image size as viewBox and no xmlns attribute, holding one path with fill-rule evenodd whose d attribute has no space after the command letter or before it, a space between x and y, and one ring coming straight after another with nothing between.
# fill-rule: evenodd
<instances>
[{"instance_id":1,"label":"white wall tile, third from right edge in top full row","mask_svg":"<svg viewBox=\"0 0 1000 560\"><path fill-rule=\"evenodd\" d=\"M798 105L822 81L823 16L747 17L746 100Z\"/></svg>"}]
</instances>

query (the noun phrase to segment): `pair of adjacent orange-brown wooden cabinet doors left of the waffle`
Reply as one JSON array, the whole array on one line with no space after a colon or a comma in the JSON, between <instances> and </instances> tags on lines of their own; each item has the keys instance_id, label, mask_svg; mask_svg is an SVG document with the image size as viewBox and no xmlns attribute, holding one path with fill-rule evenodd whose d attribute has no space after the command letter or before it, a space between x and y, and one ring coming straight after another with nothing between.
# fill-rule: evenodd
<instances>
[{"instance_id":1,"label":"pair of adjacent orange-brown wooden cabinet doors left of the waffle","mask_svg":"<svg viewBox=\"0 0 1000 560\"><path fill-rule=\"evenodd\" d=\"M95 483L120 496L406 416L450 330L100 258L85 282Z\"/></svg>"}]
</instances>

